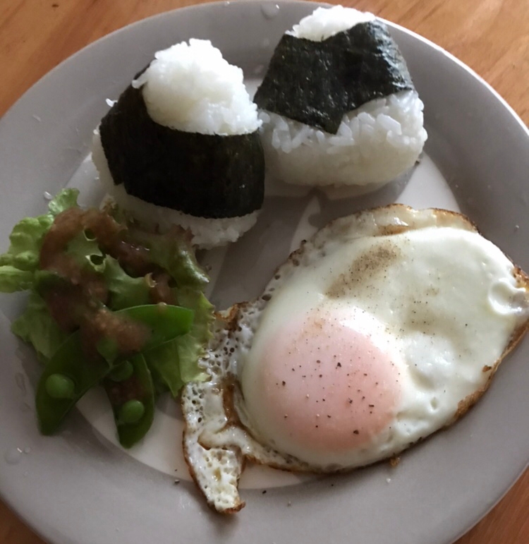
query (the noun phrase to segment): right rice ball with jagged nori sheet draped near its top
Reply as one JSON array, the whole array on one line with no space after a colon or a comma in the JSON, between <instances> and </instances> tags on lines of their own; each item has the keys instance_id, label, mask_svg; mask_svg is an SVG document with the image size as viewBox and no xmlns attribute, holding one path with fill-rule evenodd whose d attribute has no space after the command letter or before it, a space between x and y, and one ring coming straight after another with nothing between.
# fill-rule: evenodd
<instances>
[{"instance_id":1,"label":"right rice ball with jagged nori sheet draped near its top","mask_svg":"<svg viewBox=\"0 0 529 544\"><path fill-rule=\"evenodd\" d=\"M254 101L269 172L287 183L370 191L413 167L423 104L386 25L317 8L277 45Z\"/></svg>"}]
</instances>

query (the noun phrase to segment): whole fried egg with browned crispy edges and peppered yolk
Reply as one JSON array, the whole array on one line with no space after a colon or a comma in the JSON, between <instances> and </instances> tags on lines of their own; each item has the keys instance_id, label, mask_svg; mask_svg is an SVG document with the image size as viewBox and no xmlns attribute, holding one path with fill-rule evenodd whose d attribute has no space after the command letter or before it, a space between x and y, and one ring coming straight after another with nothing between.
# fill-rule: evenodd
<instances>
[{"instance_id":1,"label":"whole fried egg with browned crispy edges and peppered yolk","mask_svg":"<svg viewBox=\"0 0 529 544\"><path fill-rule=\"evenodd\" d=\"M528 308L529 278L461 214L337 219L219 313L211 380L182 394L191 475L236 512L246 459L329 473L394 457L475 404Z\"/></svg>"}]
</instances>

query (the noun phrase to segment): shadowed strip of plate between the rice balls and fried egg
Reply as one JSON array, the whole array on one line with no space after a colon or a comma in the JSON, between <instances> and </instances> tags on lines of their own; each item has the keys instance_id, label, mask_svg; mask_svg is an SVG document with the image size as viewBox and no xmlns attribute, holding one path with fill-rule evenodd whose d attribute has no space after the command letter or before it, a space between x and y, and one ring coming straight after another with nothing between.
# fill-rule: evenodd
<instances>
[{"instance_id":1,"label":"shadowed strip of plate between the rice balls and fried egg","mask_svg":"<svg viewBox=\"0 0 529 544\"><path fill-rule=\"evenodd\" d=\"M221 310L259 296L276 268L298 248L300 241L338 217L393 203L414 170L415 167L382 188L358 196L313 188L301 195L298 191L298 195L265 196L253 229L230 246L200 254L200 262L212 277L209 300Z\"/></svg>"}]
</instances>

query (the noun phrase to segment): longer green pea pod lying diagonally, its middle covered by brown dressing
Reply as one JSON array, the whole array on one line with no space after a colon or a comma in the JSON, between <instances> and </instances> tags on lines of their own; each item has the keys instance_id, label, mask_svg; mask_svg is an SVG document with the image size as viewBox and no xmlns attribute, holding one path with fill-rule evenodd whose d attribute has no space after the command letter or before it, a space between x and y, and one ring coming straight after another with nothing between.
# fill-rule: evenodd
<instances>
[{"instance_id":1,"label":"longer green pea pod lying diagonally, its middle covered by brown dressing","mask_svg":"<svg viewBox=\"0 0 529 544\"><path fill-rule=\"evenodd\" d=\"M193 311L180 306L150 304L119 310L116 314L127 316L148 328L150 334L141 351L186 334L193 323ZM43 435L53 434L88 389L99 384L123 361L123 358L115 358L116 353L111 355L109 358L86 356L78 331L61 344L44 367L35 394L37 420Z\"/></svg>"}]
</instances>

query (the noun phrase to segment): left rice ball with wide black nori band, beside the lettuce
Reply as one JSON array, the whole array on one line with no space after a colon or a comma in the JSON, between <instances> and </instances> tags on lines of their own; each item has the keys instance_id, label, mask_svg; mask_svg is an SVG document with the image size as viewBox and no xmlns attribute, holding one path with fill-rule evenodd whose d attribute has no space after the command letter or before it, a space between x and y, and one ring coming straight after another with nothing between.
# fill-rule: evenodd
<instances>
[{"instance_id":1,"label":"left rice ball with wide black nori band, beside the lettuce","mask_svg":"<svg viewBox=\"0 0 529 544\"><path fill-rule=\"evenodd\" d=\"M111 198L140 222L190 229L202 248L236 241L264 197L261 121L206 40L157 52L95 131L92 159Z\"/></svg>"}]
</instances>

